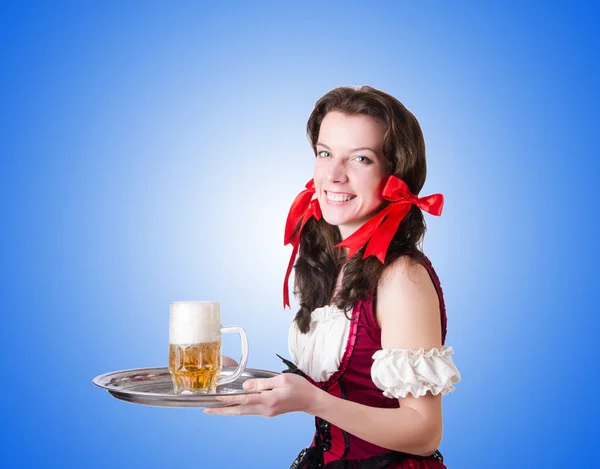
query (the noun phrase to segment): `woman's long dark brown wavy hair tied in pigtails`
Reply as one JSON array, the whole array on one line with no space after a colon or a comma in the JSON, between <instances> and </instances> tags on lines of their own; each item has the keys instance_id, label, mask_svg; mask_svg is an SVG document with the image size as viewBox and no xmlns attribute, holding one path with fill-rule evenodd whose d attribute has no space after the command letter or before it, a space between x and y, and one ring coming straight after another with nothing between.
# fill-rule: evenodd
<instances>
[{"instance_id":1,"label":"woman's long dark brown wavy hair tied in pigtails","mask_svg":"<svg viewBox=\"0 0 600 469\"><path fill-rule=\"evenodd\" d=\"M306 125L315 157L321 123L331 111L366 115L382 123L385 129L383 154L387 175L399 177L413 194L419 194L427 175L425 140L419 122L400 101L370 86L331 90L317 101ZM342 241L339 229L323 218L309 220L302 230L299 256L294 266L294 293L300 299L295 321L300 331L309 331L310 315L315 308L334 303L346 311L356 301L376 291L383 270L398 257L410 254L417 261L423 260L420 245L425 231L423 214L413 205L392 239L385 264L381 264L375 256L362 259L365 247L352 259L346 259L344 250L335 247ZM342 268L342 285L333 297Z\"/></svg>"}]
</instances>

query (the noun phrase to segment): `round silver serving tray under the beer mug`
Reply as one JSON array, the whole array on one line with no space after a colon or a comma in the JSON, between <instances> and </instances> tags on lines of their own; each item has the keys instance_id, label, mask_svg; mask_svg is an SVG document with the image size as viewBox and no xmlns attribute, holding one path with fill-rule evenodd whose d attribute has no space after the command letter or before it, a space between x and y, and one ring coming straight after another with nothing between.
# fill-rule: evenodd
<instances>
[{"instance_id":1,"label":"round silver serving tray under the beer mug","mask_svg":"<svg viewBox=\"0 0 600 469\"><path fill-rule=\"evenodd\" d=\"M235 367L224 367L221 376L235 371ZM173 382L167 367L137 368L114 371L97 376L92 381L96 386L106 389L109 394L122 401L160 407L224 407L230 404L218 401L218 396L231 394L256 394L242 388L244 381L250 378L272 378L279 373L267 370L246 368L235 381L217 386L214 394L175 394Z\"/></svg>"}]
</instances>

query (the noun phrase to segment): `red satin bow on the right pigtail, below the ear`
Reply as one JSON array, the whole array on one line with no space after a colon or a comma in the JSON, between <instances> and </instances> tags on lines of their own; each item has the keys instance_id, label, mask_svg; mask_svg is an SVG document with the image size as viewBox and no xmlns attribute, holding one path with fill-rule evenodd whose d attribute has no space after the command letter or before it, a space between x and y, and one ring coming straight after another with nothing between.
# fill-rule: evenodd
<instances>
[{"instance_id":1,"label":"red satin bow on the right pigtail, below the ear","mask_svg":"<svg viewBox=\"0 0 600 469\"><path fill-rule=\"evenodd\" d=\"M396 176L390 176L385 183L383 198L392 203L368 220L354 234L336 245L336 247L349 249L348 258L352 258L368 242L363 259L376 256L383 264L392 238L412 204L435 216L442 214L444 206L442 194L419 198L410 192L402 179Z\"/></svg>"}]
</instances>

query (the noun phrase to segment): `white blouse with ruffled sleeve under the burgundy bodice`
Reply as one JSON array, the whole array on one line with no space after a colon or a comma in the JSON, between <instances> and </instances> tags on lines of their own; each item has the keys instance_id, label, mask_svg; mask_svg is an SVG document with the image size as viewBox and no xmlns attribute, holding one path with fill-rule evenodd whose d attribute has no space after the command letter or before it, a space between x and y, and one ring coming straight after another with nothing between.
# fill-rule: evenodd
<instances>
[{"instance_id":1,"label":"white blouse with ruffled sleeve under the burgundy bodice","mask_svg":"<svg viewBox=\"0 0 600 469\"><path fill-rule=\"evenodd\" d=\"M310 330L302 334L293 321L288 349L296 366L314 381L327 381L340 367L350 331L350 321L335 305L312 312ZM446 395L454 391L460 373L452 361L452 347L440 350L384 349L373 355L371 379L389 398Z\"/></svg>"}]
</instances>

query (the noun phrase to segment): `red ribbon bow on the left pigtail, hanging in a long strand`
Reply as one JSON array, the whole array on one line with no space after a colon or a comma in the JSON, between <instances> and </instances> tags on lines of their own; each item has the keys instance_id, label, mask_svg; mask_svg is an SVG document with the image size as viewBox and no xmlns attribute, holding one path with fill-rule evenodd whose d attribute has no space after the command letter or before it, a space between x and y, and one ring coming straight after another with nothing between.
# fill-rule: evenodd
<instances>
[{"instance_id":1,"label":"red ribbon bow on the left pigtail, hanging in a long strand","mask_svg":"<svg viewBox=\"0 0 600 469\"><path fill-rule=\"evenodd\" d=\"M319 201L317 199L311 201L314 193L315 182L311 179L306 183L306 190L300 192L300 194L298 194L294 199L292 207L290 208L290 212L288 213L288 218L285 222L283 244L292 244L294 249L292 251L292 257L290 257L290 262L285 274L285 280L283 281L284 308L286 306L290 306L288 283L290 274L292 273L292 267L294 266L294 260L296 259L296 254L298 254L298 248L300 247L300 234L302 233L302 229L311 217L315 217L317 220L321 219L321 206L319 205ZM300 228L297 231L294 231L298 224L300 224Z\"/></svg>"}]
</instances>

